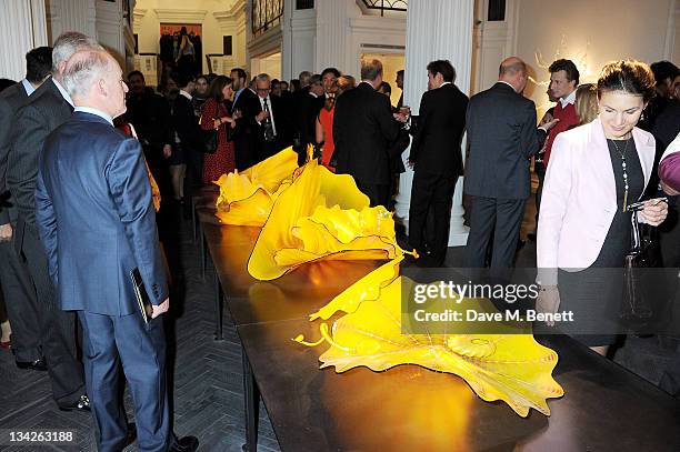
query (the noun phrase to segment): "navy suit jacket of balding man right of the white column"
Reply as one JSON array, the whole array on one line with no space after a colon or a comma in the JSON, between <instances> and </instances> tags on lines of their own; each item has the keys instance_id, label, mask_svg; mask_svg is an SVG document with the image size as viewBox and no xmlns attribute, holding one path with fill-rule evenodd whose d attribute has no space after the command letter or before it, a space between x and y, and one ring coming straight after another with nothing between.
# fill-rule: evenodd
<instances>
[{"instance_id":1,"label":"navy suit jacket of balding man right of the white column","mask_svg":"<svg viewBox=\"0 0 680 452\"><path fill-rule=\"evenodd\" d=\"M473 197L526 199L529 159L547 133L536 127L533 101L506 83L474 94L468 104L470 157L464 192Z\"/></svg>"}]
</instances>

